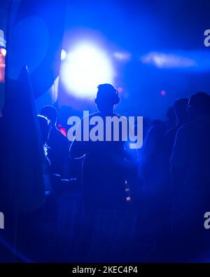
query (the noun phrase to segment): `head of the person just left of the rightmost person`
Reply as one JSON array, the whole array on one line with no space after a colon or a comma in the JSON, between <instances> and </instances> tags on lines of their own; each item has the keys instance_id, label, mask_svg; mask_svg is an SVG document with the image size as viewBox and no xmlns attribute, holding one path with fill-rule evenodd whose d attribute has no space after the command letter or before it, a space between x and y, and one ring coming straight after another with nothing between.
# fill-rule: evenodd
<instances>
[{"instance_id":1,"label":"head of the person just left of the rightmost person","mask_svg":"<svg viewBox=\"0 0 210 277\"><path fill-rule=\"evenodd\" d=\"M188 121L188 99L179 98L174 102L174 112L178 123L186 123Z\"/></svg>"}]
</instances>

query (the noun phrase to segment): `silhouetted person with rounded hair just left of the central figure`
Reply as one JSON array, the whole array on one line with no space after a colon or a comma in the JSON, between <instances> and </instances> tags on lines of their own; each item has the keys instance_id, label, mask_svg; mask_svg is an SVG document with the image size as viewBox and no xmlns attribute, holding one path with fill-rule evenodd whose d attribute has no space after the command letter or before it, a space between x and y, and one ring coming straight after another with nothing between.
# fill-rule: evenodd
<instances>
[{"instance_id":1,"label":"silhouetted person with rounded hair just left of the central figure","mask_svg":"<svg viewBox=\"0 0 210 277\"><path fill-rule=\"evenodd\" d=\"M69 177L69 142L57 129L57 110L52 106L41 109L41 115L50 121L50 133L48 137L48 157L50 158L50 170L52 173Z\"/></svg>"}]
</instances>

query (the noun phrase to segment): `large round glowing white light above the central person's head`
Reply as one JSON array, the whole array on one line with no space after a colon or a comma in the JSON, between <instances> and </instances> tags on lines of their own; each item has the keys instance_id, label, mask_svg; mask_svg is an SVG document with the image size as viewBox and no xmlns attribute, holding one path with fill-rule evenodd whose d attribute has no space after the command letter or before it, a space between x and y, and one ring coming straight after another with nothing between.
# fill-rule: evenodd
<instances>
[{"instance_id":1,"label":"large round glowing white light above the central person's head","mask_svg":"<svg viewBox=\"0 0 210 277\"><path fill-rule=\"evenodd\" d=\"M103 50L81 43L67 55L61 78L70 93L93 97L100 83L113 82L113 67Z\"/></svg>"}]
</instances>

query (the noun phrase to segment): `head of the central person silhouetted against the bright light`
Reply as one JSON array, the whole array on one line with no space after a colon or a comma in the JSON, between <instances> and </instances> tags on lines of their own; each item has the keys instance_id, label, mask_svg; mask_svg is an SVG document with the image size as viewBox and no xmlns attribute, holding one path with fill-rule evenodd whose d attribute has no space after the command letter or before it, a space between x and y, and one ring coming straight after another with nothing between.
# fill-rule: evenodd
<instances>
[{"instance_id":1,"label":"head of the central person silhouetted against the bright light","mask_svg":"<svg viewBox=\"0 0 210 277\"><path fill-rule=\"evenodd\" d=\"M110 83L103 83L98 86L95 103L99 112L113 112L113 106L118 104L119 101L118 90Z\"/></svg>"}]
</instances>

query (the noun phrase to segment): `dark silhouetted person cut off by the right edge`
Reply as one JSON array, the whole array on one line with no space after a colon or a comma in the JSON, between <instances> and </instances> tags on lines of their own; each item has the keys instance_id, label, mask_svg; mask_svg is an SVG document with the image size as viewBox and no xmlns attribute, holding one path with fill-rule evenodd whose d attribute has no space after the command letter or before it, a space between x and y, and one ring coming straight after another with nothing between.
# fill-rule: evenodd
<instances>
[{"instance_id":1,"label":"dark silhouetted person cut off by the right edge","mask_svg":"<svg viewBox=\"0 0 210 277\"><path fill-rule=\"evenodd\" d=\"M204 213L210 210L210 96L192 95L188 113L191 121L176 134L171 169L174 254L183 262L202 258L209 248Z\"/></svg>"}]
</instances>

